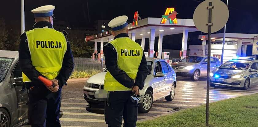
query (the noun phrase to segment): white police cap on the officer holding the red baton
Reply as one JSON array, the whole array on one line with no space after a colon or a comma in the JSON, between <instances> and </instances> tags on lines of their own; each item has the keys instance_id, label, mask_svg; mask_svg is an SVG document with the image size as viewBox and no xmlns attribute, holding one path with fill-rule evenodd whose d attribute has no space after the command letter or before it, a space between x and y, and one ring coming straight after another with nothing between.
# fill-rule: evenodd
<instances>
[{"instance_id":1,"label":"white police cap on the officer holding the red baton","mask_svg":"<svg viewBox=\"0 0 258 127\"><path fill-rule=\"evenodd\" d=\"M49 17L53 14L56 7L53 5L45 5L31 10L35 17Z\"/></svg>"}]
</instances>

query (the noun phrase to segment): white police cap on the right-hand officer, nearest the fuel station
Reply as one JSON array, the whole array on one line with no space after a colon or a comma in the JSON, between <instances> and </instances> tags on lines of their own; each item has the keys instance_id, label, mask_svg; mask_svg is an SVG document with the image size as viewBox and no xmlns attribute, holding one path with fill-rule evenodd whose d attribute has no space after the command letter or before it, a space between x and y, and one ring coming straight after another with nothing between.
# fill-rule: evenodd
<instances>
[{"instance_id":1,"label":"white police cap on the right-hand officer, nearest the fuel station","mask_svg":"<svg viewBox=\"0 0 258 127\"><path fill-rule=\"evenodd\" d=\"M108 26L111 27L113 31L123 29L127 26L127 19L128 17L126 15L115 17L108 23Z\"/></svg>"}]
</instances>

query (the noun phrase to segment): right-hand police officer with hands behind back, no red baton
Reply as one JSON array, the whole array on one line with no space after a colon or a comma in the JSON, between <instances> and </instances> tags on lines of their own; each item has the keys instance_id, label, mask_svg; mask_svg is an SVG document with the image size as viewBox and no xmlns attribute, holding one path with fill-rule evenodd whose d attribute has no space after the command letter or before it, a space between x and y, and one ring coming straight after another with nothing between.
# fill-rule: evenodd
<instances>
[{"instance_id":1,"label":"right-hand police officer with hands behind back, no red baton","mask_svg":"<svg viewBox=\"0 0 258 127\"><path fill-rule=\"evenodd\" d=\"M105 64L108 69L104 90L109 92L105 107L105 120L109 127L135 127L138 104L131 94L138 95L148 74L142 47L128 36L127 16L119 16L108 24L114 40L104 46Z\"/></svg>"}]
</instances>

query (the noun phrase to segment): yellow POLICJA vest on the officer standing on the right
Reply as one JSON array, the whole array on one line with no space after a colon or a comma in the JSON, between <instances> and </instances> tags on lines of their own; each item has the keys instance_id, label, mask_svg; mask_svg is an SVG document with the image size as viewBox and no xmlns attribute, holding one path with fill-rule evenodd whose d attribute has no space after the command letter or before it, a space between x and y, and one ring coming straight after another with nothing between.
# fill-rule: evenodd
<instances>
[{"instance_id":1,"label":"yellow POLICJA vest on the officer standing on the right","mask_svg":"<svg viewBox=\"0 0 258 127\"><path fill-rule=\"evenodd\" d=\"M128 37L116 38L109 42L117 52L117 65L119 69L126 72L131 79L136 79L139 65L143 57L142 47ZM104 90L106 91L129 91L120 84L108 71L104 79Z\"/></svg>"}]
</instances>

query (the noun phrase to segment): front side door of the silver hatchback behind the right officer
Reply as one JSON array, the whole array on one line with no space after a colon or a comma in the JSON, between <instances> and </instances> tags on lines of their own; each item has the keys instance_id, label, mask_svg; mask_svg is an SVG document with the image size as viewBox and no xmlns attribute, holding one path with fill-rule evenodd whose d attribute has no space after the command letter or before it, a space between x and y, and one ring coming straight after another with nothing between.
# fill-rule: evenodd
<instances>
[{"instance_id":1,"label":"front side door of the silver hatchback behind the right officer","mask_svg":"<svg viewBox=\"0 0 258 127\"><path fill-rule=\"evenodd\" d=\"M160 61L156 61L154 64L154 80L153 80L153 87L154 87L154 100L163 97L163 90L166 87L166 78L165 77L155 77L156 73L161 72L163 73Z\"/></svg>"}]
</instances>

